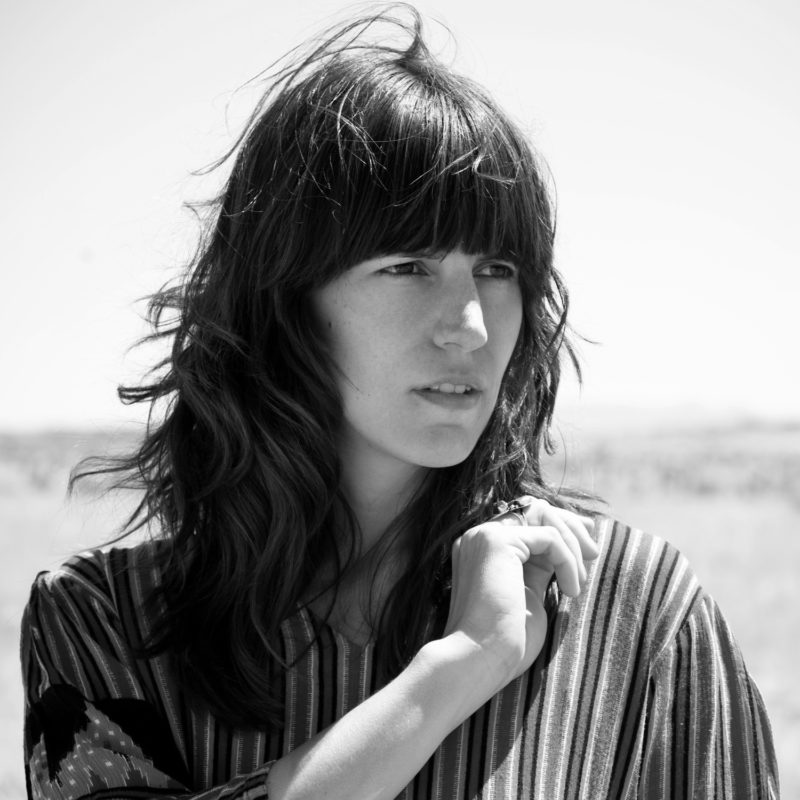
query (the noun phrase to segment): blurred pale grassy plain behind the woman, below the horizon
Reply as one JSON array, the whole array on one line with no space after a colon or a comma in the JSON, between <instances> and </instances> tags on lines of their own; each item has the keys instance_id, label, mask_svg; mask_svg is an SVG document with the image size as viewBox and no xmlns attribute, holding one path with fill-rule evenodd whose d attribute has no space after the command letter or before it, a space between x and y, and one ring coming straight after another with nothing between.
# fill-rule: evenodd
<instances>
[{"instance_id":1,"label":"blurred pale grassy plain behind the woman, below the horizon","mask_svg":"<svg viewBox=\"0 0 800 800\"><path fill-rule=\"evenodd\" d=\"M129 429L0 434L0 797L24 797L19 621L36 573L111 538L134 497L89 484L82 457L125 450ZM560 426L551 480L681 549L721 606L772 720L784 797L800 797L800 422Z\"/></svg>"}]
</instances>

